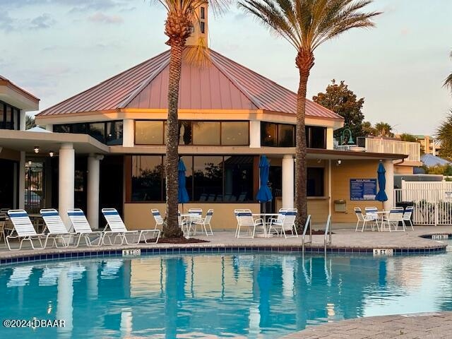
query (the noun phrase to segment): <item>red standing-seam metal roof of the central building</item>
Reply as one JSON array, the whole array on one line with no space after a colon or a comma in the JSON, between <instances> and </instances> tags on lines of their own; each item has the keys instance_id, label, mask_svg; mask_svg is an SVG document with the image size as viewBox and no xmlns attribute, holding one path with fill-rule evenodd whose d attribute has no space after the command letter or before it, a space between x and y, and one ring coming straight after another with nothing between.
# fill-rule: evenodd
<instances>
[{"instance_id":1,"label":"red standing-seam metal roof of the central building","mask_svg":"<svg viewBox=\"0 0 452 339\"><path fill-rule=\"evenodd\" d=\"M191 47L186 47L191 48ZM212 62L197 66L184 61L180 109L263 109L294 113L297 96L258 73L210 49ZM39 115L95 112L109 109L166 109L169 51L107 79L93 88L44 109ZM307 100L307 116L343 119Z\"/></svg>"}]
</instances>

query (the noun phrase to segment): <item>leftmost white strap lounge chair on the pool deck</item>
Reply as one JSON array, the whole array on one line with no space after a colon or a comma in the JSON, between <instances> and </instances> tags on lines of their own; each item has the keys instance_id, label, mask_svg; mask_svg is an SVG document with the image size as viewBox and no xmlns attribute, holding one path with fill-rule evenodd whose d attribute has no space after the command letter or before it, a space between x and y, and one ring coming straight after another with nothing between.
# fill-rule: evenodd
<instances>
[{"instance_id":1,"label":"leftmost white strap lounge chair on the pool deck","mask_svg":"<svg viewBox=\"0 0 452 339\"><path fill-rule=\"evenodd\" d=\"M31 223L30 218L28 218L27 212L25 210L8 210L8 216L14 227L14 234L8 234L6 236L6 244L8 245L8 249L10 251L18 251L22 249L23 242L29 241L32 249L44 249L47 244L47 237L49 234L36 233L35 227ZM11 244L9 243L10 239L19 239L20 244L17 249L12 249ZM42 244L42 239L45 240L44 244ZM39 247L35 247L33 240L37 240L40 243Z\"/></svg>"}]
</instances>

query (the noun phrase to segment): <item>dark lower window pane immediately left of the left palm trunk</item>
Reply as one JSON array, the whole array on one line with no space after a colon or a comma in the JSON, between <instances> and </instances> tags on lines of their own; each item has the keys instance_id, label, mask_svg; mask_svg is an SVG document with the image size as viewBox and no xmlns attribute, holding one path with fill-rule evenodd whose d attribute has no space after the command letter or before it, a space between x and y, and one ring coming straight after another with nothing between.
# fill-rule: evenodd
<instances>
[{"instance_id":1,"label":"dark lower window pane immediately left of the left palm trunk","mask_svg":"<svg viewBox=\"0 0 452 339\"><path fill-rule=\"evenodd\" d=\"M162 201L162 156L132 157L132 201Z\"/></svg>"}]
</instances>

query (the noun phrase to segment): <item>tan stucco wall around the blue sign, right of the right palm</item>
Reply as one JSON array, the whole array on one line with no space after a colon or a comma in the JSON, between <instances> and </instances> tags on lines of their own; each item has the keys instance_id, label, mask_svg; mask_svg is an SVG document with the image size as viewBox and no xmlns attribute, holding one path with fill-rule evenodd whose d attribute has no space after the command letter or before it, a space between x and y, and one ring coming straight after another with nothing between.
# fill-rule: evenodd
<instances>
[{"instance_id":1,"label":"tan stucco wall around the blue sign, right of the right palm","mask_svg":"<svg viewBox=\"0 0 452 339\"><path fill-rule=\"evenodd\" d=\"M333 203L335 200L345 200L347 208L346 213L335 212L333 203L331 215L333 222L356 222L353 211L355 207L362 210L370 206L375 206L379 210L383 208L383 203L379 201L350 201L350 179L376 179L378 165L378 160L342 160L340 165L331 168L331 201Z\"/></svg>"}]
</instances>

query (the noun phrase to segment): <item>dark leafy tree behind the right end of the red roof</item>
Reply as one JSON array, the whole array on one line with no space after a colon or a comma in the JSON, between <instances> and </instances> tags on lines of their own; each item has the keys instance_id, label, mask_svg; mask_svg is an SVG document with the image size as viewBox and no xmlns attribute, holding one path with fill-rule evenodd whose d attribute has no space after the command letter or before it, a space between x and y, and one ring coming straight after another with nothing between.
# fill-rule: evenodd
<instances>
[{"instance_id":1,"label":"dark leafy tree behind the right end of the red roof","mask_svg":"<svg viewBox=\"0 0 452 339\"><path fill-rule=\"evenodd\" d=\"M333 79L331 85L326 87L325 93L314 95L312 100L343 117L344 128L350 129L354 138L364 136L362 131L364 114L361 112L362 105L364 105L364 97L357 99L355 93L348 89L348 85L344 81L340 81L338 84ZM342 132L343 129L334 131L335 138L340 138Z\"/></svg>"}]
</instances>

